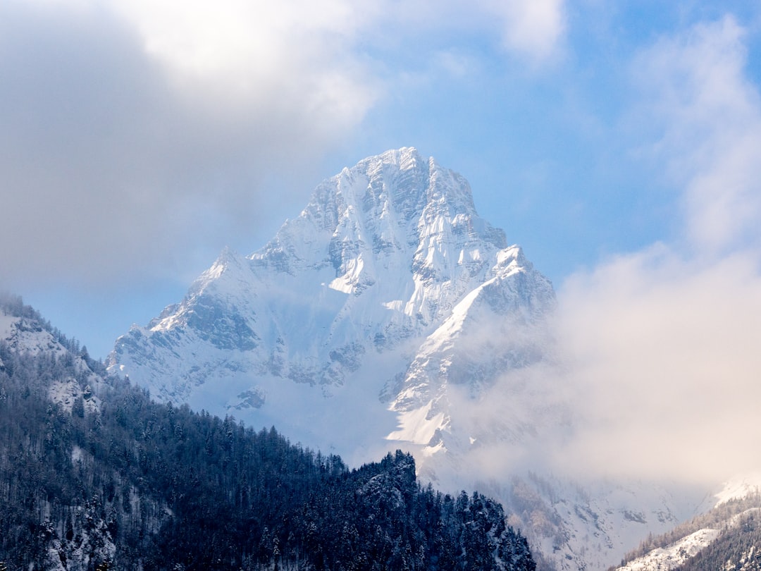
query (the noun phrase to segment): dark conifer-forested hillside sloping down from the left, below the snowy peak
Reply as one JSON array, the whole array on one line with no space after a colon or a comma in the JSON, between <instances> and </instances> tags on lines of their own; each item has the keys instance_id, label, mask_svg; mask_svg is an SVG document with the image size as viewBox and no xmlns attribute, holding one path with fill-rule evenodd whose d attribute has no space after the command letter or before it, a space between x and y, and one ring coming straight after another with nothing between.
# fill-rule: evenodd
<instances>
[{"instance_id":1,"label":"dark conifer-forested hillside sloping down from the left, below the snowy peak","mask_svg":"<svg viewBox=\"0 0 761 571\"><path fill-rule=\"evenodd\" d=\"M498 503L423 488L409 455L349 470L274 428L156 404L0 301L8 571L535 567Z\"/></svg>"}]
</instances>

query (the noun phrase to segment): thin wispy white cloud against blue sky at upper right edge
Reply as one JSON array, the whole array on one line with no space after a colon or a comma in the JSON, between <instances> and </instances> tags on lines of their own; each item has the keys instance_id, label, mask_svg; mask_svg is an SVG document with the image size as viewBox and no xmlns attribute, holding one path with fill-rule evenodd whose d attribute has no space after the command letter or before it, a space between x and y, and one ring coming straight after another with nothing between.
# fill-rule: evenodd
<instances>
[{"instance_id":1,"label":"thin wispy white cloud against blue sky at upper right edge","mask_svg":"<svg viewBox=\"0 0 761 571\"><path fill-rule=\"evenodd\" d=\"M744 30L734 18L661 40L635 61L654 151L684 188L686 238L721 253L759 243L761 100L747 80Z\"/></svg>"}]
</instances>

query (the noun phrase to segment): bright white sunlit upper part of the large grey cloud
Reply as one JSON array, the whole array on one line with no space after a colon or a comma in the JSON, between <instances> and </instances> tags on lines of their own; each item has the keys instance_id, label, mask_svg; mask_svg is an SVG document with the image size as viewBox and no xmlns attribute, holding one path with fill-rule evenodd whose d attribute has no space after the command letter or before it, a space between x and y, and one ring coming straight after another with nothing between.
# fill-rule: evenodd
<instances>
[{"instance_id":1,"label":"bright white sunlit upper part of the large grey cloud","mask_svg":"<svg viewBox=\"0 0 761 571\"><path fill-rule=\"evenodd\" d=\"M371 104L369 76L352 56L366 11L350 2L143 2L116 0L145 52L183 90L215 104L269 106L286 100L361 118ZM326 81L327 80L327 81ZM340 102L340 106L338 103Z\"/></svg>"}]
</instances>

